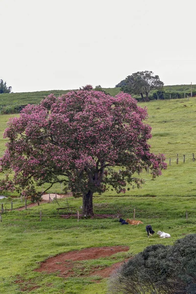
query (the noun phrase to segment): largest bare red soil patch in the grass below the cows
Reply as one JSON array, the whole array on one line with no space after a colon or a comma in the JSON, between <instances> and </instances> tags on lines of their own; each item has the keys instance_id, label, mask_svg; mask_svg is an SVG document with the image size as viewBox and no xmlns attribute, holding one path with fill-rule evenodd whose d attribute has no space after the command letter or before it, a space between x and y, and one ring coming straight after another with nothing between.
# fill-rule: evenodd
<instances>
[{"instance_id":1,"label":"largest bare red soil patch in the grass below the cows","mask_svg":"<svg viewBox=\"0 0 196 294\"><path fill-rule=\"evenodd\" d=\"M35 271L46 271L48 273L59 272L60 276L69 277L70 275L74 275L73 267L77 261L98 259L100 257L107 257L117 252L125 252L128 250L128 246L105 246L85 248L78 251L62 253L47 259L45 262L41 264L40 268L36 269ZM115 263L111 267L107 267L105 269L99 269L99 267L95 267L91 270L88 276L98 275L102 278L108 277L111 274L111 272L113 270L118 269L120 265L123 264L123 262ZM84 273L82 273L82 275L85 276Z\"/></svg>"}]
</instances>

